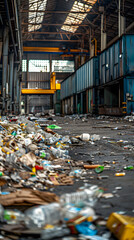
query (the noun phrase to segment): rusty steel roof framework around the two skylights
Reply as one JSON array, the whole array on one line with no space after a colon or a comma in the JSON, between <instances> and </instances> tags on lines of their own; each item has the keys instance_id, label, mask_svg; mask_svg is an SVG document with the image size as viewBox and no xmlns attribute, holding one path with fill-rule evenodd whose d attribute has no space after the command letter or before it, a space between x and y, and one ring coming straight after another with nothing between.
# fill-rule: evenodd
<instances>
[{"instance_id":1,"label":"rusty steel roof framework around the two skylights","mask_svg":"<svg viewBox=\"0 0 134 240\"><path fill-rule=\"evenodd\" d=\"M24 42L68 42L71 47L75 43L77 48L84 46L88 49L90 39L96 38L98 48L100 48L100 6L104 6L104 31L107 33L107 41L110 42L118 35L118 0L69 0L67 2L47 0L45 9L39 7L32 9L33 4L39 1L41 0L34 0L29 5L28 1L21 0L20 12ZM74 3L75 6L81 7L73 8ZM127 19L127 29L134 22L133 12L133 0L121 0L121 15ZM43 14L42 22L30 22L30 13L37 16ZM66 20L68 16L70 21ZM34 30L29 31L30 26Z\"/></svg>"}]
</instances>

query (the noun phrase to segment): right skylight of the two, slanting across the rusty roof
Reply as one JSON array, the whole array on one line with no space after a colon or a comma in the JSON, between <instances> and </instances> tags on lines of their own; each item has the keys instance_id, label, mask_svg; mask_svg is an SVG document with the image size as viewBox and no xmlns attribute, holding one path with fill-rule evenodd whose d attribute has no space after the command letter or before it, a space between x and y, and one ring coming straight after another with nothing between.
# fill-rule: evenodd
<instances>
[{"instance_id":1,"label":"right skylight of the two, slanting across the rusty roof","mask_svg":"<svg viewBox=\"0 0 134 240\"><path fill-rule=\"evenodd\" d=\"M68 31L68 32L76 32L76 30L78 29L78 25L77 26L67 26L65 24L81 24L82 21L85 19L85 17L87 16L88 12L90 12L90 10L92 9L92 6L96 3L97 0L84 0L85 3L81 3L79 1L75 1L71 12L87 12L87 13L69 13L65 22L63 23L61 29L64 31Z\"/></svg>"}]
</instances>

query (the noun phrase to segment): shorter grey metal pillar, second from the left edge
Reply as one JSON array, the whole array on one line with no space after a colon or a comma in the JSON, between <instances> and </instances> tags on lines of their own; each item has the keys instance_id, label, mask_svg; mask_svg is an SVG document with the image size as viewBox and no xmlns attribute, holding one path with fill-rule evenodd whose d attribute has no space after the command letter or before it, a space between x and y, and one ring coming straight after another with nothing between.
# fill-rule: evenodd
<instances>
[{"instance_id":1,"label":"shorter grey metal pillar, second from the left edge","mask_svg":"<svg viewBox=\"0 0 134 240\"><path fill-rule=\"evenodd\" d=\"M14 70L14 53L9 56L10 61L10 77L9 77L9 91L10 91L10 113L12 113L13 107L13 70Z\"/></svg>"}]
</instances>

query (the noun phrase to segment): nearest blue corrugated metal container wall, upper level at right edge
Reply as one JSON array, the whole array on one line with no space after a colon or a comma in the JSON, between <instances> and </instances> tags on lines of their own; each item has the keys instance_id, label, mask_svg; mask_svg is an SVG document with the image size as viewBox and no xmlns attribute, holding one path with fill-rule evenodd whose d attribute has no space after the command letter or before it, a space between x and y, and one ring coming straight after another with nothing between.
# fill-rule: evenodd
<instances>
[{"instance_id":1,"label":"nearest blue corrugated metal container wall, upper level at right edge","mask_svg":"<svg viewBox=\"0 0 134 240\"><path fill-rule=\"evenodd\" d=\"M124 35L100 54L100 84L134 73L134 35Z\"/></svg>"}]
</instances>

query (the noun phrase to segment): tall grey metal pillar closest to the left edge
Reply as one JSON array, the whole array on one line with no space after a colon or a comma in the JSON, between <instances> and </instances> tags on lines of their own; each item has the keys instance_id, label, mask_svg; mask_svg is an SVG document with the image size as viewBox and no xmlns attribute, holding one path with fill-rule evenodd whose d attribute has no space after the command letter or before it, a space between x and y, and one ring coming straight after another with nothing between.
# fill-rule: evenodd
<instances>
[{"instance_id":1,"label":"tall grey metal pillar closest to the left edge","mask_svg":"<svg viewBox=\"0 0 134 240\"><path fill-rule=\"evenodd\" d=\"M7 110L6 104L6 82L8 78L8 45L9 45L9 29L5 27L3 34L3 73L2 73L2 98L3 106L2 113L5 114Z\"/></svg>"}]
</instances>

